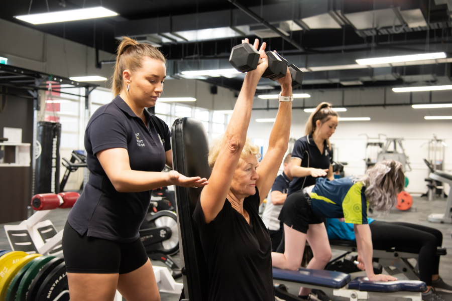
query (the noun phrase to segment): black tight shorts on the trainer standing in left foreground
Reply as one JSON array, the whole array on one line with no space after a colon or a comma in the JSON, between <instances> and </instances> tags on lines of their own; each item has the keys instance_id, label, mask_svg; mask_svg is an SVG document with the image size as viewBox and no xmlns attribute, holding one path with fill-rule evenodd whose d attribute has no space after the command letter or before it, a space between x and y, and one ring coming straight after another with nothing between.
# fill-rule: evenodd
<instances>
[{"instance_id":1,"label":"black tight shorts on the trainer standing in left foreground","mask_svg":"<svg viewBox=\"0 0 452 301\"><path fill-rule=\"evenodd\" d=\"M68 222L63 232L63 254L69 273L126 274L148 261L140 238L121 243L88 237L78 234Z\"/></svg>"}]
</instances>

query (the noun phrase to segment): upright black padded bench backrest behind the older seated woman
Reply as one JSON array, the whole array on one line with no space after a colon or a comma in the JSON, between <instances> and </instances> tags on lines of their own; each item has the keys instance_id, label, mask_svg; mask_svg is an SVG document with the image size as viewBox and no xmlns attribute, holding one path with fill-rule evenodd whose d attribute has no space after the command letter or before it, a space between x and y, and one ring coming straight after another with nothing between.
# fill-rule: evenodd
<instances>
[{"instance_id":1,"label":"upright black padded bench backrest behind the older seated woman","mask_svg":"<svg viewBox=\"0 0 452 301\"><path fill-rule=\"evenodd\" d=\"M204 125L193 118L174 121L172 129L173 169L186 177L209 178L207 162L208 138ZM192 214L201 194L201 188L176 186L177 220L181 265L185 266L185 298L207 300L208 270Z\"/></svg>"}]
</instances>

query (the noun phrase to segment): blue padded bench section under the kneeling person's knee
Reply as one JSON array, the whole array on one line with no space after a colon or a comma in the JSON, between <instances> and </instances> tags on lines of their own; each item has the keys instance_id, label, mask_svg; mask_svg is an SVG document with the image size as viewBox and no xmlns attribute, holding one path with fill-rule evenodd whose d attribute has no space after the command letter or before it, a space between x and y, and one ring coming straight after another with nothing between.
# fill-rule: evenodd
<instances>
[{"instance_id":1,"label":"blue padded bench section under the kneeling person's knee","mask_svg":"<svg viewBox=\"0 0 452 301\"><path fill-rule=\"evenodd\" d=\"M352 278L349 274L334 271L309 268L299 268L296 271L290 271L274 267L273 279L319 285L330 288L341 288L346 286Z\"/></svg>"}]
</instances>

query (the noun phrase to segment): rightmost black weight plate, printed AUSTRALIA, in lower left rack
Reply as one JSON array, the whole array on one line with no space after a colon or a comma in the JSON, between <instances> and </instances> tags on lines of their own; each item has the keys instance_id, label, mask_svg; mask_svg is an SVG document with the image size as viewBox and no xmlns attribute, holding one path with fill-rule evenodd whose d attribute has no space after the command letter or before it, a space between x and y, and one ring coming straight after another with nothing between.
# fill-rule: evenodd
<instances>
[{"instance_id":1,"label":"rightmost black weight plate, printed AUSTRALIA, in lower left rack","mask_svg":"<svg viewBox=\"0 0 452 301\"><path fill-rule=\"evenodd\" d=\"M67 283L66 263L62 262L46 277L34 300L53 300L65 290L69 290L69 284ZM60 296L58 301L69 301L69 293Z\"/></svg>"}]
</instances>

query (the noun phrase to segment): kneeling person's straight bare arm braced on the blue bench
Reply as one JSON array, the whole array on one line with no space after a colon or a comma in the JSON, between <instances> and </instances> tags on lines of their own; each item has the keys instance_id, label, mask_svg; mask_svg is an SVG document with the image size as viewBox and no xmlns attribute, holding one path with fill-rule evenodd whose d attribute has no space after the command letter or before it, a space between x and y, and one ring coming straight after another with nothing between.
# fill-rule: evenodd
<instances>
[{"instance_id":1,"label":"kneeling person's straight bare arm braced on the blue bench","mask_svg":"<svg viewBox=\"0 0 452 301\"><path fill-rule=\"evenodd\" d=\"M374 267L372 266L372 233L369 224L365 225L353 225L356 236L356 245L358 247L358 267L362 270L366 270L367 277L373 281L393 281L397 280L396 277L384 274L374 274Z\"/></svg>"}]
</instances>

